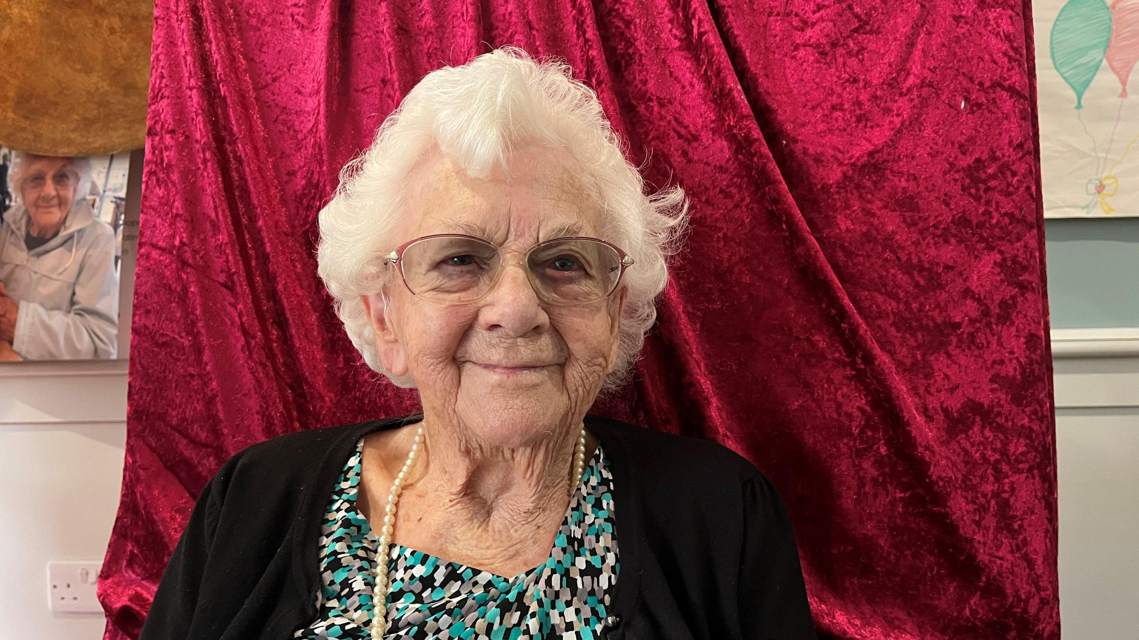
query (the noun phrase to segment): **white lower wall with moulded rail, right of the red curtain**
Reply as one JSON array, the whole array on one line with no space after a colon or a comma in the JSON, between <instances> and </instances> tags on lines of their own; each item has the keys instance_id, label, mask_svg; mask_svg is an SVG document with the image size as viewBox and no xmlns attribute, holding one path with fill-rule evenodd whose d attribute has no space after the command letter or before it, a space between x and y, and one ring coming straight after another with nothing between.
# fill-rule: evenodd
<instances>
[{"instance_id":1,"label":"white lower wall with moulded rail, right of the red curtain","mask_svg":"<svg viewBox=\"0 0 1139 640\"><path fill-rule=\"evenodd\" d=\"M1052 331L1065 640L1139 638L1139 329Z\"/></svg>"}]
</instances>

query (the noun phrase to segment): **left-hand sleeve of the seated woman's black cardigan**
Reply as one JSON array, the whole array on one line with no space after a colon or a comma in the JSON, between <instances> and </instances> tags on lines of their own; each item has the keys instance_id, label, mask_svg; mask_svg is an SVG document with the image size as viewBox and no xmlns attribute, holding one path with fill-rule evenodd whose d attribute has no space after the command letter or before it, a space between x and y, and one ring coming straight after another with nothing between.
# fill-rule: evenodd
<instances>
[{"instance_id":1,"label":"left-hand sleeve of the seated woman's black cardigan","mask_svg":"<svg viewBox=\"0 0 1139 640\"><path fill-rule=\"evenodd\" d=\"M190 635L210 548L216 531L222 491L214 476L198 495L147 613L139 640L180 640ZM200 630L195 630L200 632ZM219 631L220 634L220 631Z\"/></svg>"}]
</instances>

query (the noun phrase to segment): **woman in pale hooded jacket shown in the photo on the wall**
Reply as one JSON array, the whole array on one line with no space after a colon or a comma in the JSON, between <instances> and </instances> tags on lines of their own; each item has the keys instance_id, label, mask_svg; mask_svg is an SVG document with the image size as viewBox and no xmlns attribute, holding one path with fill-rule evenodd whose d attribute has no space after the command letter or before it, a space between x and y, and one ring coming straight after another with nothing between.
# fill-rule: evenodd
<instances>
[{"instance_id":1,"label":"woman in pale hooded jacket shown in the photo on the wall","mask_svg":"<svg viewBox=\"0 0 1139 640\"><path fill-rule=\"evenodd\" d=\"M0 224L0 360L114 358L115 233L95 216L88 158L16 154Z\"/></svg>"}]
</instances>

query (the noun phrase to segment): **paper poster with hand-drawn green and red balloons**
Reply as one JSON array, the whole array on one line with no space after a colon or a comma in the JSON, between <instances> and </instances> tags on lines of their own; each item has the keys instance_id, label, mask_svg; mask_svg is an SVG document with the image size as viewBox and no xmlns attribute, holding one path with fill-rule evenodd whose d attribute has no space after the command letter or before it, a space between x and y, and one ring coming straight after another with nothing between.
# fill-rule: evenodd
<instances>
[{"instance_id":1,"label":"paper poster with hand-drawn green and red balloons","mask_svg":"<svg viewBox=\"0 0 1139 640\"><path fill-rule=\"evenodd\" d=\"M1044 218L1139 216L1139 0L1032 13Z\"/></svg>"}]
</instances>

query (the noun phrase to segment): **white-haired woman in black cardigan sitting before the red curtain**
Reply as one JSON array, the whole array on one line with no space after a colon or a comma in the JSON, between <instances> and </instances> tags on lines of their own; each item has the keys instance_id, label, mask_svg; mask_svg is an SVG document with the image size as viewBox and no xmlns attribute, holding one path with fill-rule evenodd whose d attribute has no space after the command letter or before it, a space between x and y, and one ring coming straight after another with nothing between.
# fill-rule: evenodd
<instances>
[{"instance_id":1,"label":"white-haired woman in black cardigan sitting before the red curtain","mask_svg":"<svg viewBox=\"0 0 1139 640\"><path fill-rule=\"evenodd\" d=\"M806 639L768 478L588 415L654 321L683 196L597 97L500 50L428 74L321 212L320 274L423 412L274 438L203 491L159 639Z\"/></svg>"}]
</instances>

